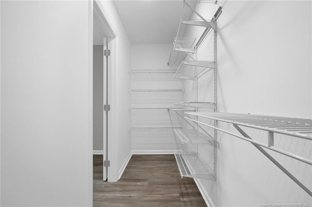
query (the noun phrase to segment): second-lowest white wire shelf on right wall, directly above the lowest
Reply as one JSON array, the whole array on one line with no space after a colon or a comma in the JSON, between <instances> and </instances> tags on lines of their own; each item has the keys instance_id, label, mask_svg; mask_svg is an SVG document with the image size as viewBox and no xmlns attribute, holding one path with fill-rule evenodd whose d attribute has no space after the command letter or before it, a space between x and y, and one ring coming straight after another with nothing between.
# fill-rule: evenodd
<instances>
[{"instance_id":1,"label":"second-lowest white wire shelf on right wall, directly above the lowest","mask_svg":"<svg viewBox=\"0 0 312 207\"><path fill-rule=\"evenodd\" d=\"M207 136L195 129L174 129L176 136L183 144L209 144L215 145L215 141L208 140Z\"/></svg>"}]
</instances>

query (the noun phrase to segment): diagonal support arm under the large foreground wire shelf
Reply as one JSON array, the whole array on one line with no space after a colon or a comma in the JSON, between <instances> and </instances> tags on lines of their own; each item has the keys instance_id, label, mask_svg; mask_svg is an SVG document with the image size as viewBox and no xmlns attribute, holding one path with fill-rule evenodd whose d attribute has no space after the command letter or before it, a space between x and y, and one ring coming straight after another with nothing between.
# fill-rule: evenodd
<instances>
[{"instance_id":1,"label":"diagonal support arm under the large foreground wire shelf","mask_svg":"<svg viewBox=\"0 0 312 207\"><path fill-rule=\"evenodd\" d=\"M249 137L246 132L244 132L237 124L233 124L234 128L237 129L237 131L243 135L245 138L249 138L252 139L251 137ZM289 171L287 171L281 164L279 164L278 161L276 161L271 155L269 155L269 153L267 153L262 147L260 147L257 144L254 144L253 142L251 142L255 148L257 148L263 155L265 155L266 157L268 157L268 159L270 159L274 165L276 165L281 171L283 171L288 177L290 177L298 186L300 186L300 188L302 188L304 191L306 191L310 196L312 196L312 192L311 190L309 190L307 187L305 187L299 180L297 180Z\"/></svg>"}]
</instances>

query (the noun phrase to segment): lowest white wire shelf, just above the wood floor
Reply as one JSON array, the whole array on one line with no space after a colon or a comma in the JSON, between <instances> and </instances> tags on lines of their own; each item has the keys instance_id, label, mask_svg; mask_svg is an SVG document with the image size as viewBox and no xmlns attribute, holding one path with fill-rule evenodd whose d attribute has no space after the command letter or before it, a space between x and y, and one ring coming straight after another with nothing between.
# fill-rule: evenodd
<instances>
[{"instance_id":1,"label":"lowest white wire shelf, just above the wood floor","mask_svg":"<svg viewBox=\"0 0 312 207\"><path fill-rule=\"evenodd\" d=\"M197 153L175 152L176 163L181 177L215 179L215 174Z\"/></svg>"}]
</instances>

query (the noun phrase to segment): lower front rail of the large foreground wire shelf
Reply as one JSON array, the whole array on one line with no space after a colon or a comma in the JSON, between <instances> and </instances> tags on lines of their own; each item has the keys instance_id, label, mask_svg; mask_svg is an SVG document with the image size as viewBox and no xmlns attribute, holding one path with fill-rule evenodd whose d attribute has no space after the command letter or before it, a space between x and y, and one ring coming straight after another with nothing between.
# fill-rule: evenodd
<instances>
[{"instance_id":1,"label":"lower front rail of the large foreground wire shelf","mask_svg":"<svg viewBox=\"0 0 312 207\"><path fill-rule=\"evenodd\" d=\"M196 120L190 119L190 118L188 118L188 117L184 117L184 118L187 119L187 120L191 120L191 121L194 121L194 122L196 122L196 123L199 123L199 124L208 126L208 127L210 127L210 128L216 129L216 130L218 130L218 131L224 132L224 133L226 133L226 134L232 135L232 136L234 136L234 137L241 138L241 139L244 139L244 140L246 140L246 141L252 142L252 143L254 143L254 144L257 144L257 145L259 145L259 146L265 147L265 148L267 148L267 149L269 149L269 150L272 150L272 151L275 151L275 152L277 152L277 153L280 153L280 154L283 154L283 155L292 157L292 158L294 158L294 159L297 159L297 160L302 161L302 162L304 162L304 163L307 163L307 164L309 164L309 165L312 165L312 160L306 159L306 158L304 158L304 157L301 157L301 156L298 156L298 155L293 155L293 154L291 154L291 153L289 153L289 152L286 152L286 151L284 151L284 150L278 149L278 148L276 148L276 147L267 146L267 145L263 144L262 142L255 141L255 140L253 140L253 139L249 139L249 138L245 138L245 137L236 135L236 134L234 134L234 133L232 133L232 132L229 132L229 131L220 129L220 128L218 128L218 127L215 127L215 126L212 126L212 125L209 125L209 124L200 122L200 121L196 121Z\"/></svg>"}]
</instances>

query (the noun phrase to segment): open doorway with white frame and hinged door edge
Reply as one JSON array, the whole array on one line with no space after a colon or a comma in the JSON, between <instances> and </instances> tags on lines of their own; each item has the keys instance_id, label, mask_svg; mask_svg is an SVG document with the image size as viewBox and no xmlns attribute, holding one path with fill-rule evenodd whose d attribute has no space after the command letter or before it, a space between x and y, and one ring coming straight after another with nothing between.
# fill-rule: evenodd
<instances>
[{"instance_id":1,"label":"open doorway with white frame and hinged door edge","mask_svg":"<svg viewBox=\"0 0 312 207\"><path fill-rule=\"evenodd\" d=\"M93 154L102 156L98 173L108 181L110 161L108 143L110 134L111 43L114 33L103 15L98 1L93 4ZM98 165L99 163L97 163Z\"/></svg>"}]
</instances>

